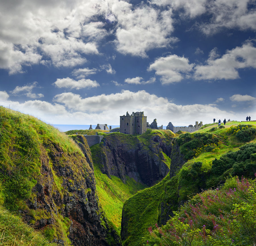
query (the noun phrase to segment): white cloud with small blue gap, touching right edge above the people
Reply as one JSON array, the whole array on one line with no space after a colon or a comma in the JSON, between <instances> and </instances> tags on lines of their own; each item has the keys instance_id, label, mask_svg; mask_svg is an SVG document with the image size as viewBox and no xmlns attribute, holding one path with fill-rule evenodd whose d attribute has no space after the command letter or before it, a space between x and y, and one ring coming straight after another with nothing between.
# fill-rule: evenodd
<instances>
[{"instance_id":1,"label":"white cloud with small blue gap, touching right edge above the people","mask_svg":"<svg viewBox=\"0 0 256 246\"><path fill-rule=\"evenodd\" d=\"M256 68L256 48L252 41L227 51L220 58L216 49L210 52L207 65L195 66L195 79L237 79L238 69Z\"/></svg>"}]
</instances>

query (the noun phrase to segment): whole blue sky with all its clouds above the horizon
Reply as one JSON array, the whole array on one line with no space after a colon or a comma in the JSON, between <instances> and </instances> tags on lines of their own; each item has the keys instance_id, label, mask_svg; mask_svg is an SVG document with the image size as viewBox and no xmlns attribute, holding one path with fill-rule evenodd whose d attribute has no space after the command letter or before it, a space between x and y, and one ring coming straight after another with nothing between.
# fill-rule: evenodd
<instances>
[{"instance_id":1,"label":"whole blue sky with all its clouds above the horizon","mask_svg":"<svg viewBox=\"0 0 256 246\"><path fill-rule=\"evenodd\" d=\"M51 124L253 120L255 4L2 1L0 105Z\"/></svg>"}]
</instances>

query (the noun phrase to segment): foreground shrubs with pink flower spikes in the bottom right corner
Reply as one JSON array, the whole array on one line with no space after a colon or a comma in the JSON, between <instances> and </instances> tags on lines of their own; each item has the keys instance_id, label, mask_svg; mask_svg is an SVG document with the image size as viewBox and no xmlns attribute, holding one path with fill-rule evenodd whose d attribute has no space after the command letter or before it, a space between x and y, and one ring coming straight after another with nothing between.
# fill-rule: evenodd
<instances>
[{"instance_id":1,"label":"foreground shrubs with pink flower spikes in the bottom right corner","mask_svg":"<svg viewBox=\"0 0 256 246\"><path fill-rule=\"evenodd\" d=\"M143 245L255 245L255 180L229 178L222 188L197 194L161 228L148 228Z\"/></svg>"}]
</instances>

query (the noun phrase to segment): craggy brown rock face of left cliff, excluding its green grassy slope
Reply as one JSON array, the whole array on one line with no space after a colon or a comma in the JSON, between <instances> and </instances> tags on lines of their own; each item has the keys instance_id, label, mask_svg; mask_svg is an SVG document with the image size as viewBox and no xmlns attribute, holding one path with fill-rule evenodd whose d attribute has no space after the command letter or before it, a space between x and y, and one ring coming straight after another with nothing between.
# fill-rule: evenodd
<instances>
[{"instance_id":1,"label":"craggy brown rock face of left cliff, excluding its green grassy slope","mask_svg":"<svg viewBox=\"0 0 256 246\"><path fill-rule=\"evenodd\" d=\"M55 143L41 149L41 175L28 209L21 211L24 220L61 245L122 245L98 206L86 139L77 136L77 144L84 156L67 154Z\"/></svg>"}]
</instances>

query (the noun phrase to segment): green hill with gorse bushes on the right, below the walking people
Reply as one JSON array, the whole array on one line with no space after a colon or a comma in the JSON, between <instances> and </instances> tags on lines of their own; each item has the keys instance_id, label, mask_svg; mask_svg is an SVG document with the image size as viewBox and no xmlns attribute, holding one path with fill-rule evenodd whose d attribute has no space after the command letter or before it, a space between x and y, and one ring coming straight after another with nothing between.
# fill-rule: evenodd
<instances>
[{"instance_id":1,"label":"green hill with gorse bushes on the right, below the walking people","mask_svg":"<svg viewBox=\"0 0 256 246\"><path fill-rule=\"evenodd\" d=\"M256 172L255 122L246 127L230 122L225 129L206 126L174 141L186 160L173 177L138 192L123 207L121 238L123 245L141 245L148 227L165 224L180 205L202 190L219 186L229 175L253 178ZM234 127L231 127L231 126ZM231 127L231 128L230 128Z\"/></svg>"}]
</instances>

